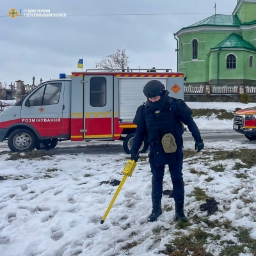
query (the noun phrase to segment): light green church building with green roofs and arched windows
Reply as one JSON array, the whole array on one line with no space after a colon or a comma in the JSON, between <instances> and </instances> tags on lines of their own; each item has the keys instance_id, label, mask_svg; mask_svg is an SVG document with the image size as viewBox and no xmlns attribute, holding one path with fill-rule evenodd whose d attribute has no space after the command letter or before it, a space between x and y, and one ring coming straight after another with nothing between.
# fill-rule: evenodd
<instances>
[{"instance_id":1,"label":"light green church building with green roofs and arched windows","mask_svg":"<svg viewBox=\"0 0 256 256\"><path fill-rule=\"evenodd\" d=\"M237 0L232 15L212 15L175 35L186 84L256 86L256 0Z\"/></svg>"}]
</instances>

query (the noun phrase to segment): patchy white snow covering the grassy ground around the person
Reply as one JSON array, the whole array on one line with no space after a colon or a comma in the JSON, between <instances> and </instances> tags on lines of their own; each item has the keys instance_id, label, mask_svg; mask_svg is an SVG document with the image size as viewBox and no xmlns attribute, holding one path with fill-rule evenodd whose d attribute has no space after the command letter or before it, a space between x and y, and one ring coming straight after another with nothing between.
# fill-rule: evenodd
<instances>
[{"instance_id":1,"label":"patchy white snow covering the grassy ground around the person","mask_svg":"<svg viewBox=\"0 0 256 256\"><path fill-rule=\"evenodd\" d=\"M195 108L196 104L188 102L191 108ZM220 108L223 108L223 103L221 105ZM250 107L249 104L247 106ZM236 104L237 107L239 104ZM227 108L233 108L232 104ZM212 124L220 125L216 120L207 122L211 127ZM194 151L194 147L192 141L184 143L185 149ZM230 151L254 149L255 143L242 145L239 141L230 140L223 145L221 141L205 141L205 148ZM204 157L200 157L202 154L204 150L184 161L185 211L189 219L195 215L207 217L206 212L199 210L204 202L189 196L195 187L199 187L220 202L220 211L212 215L210 220L230 220L237 227L252 228L251 236L255 238L256 167L241 168L239 172L246 175L241 179L236 177L237 171L233 170L234 164L240 163L239 159L236 163L230 159L216 163L211 160L211 152L207 152L207 156L204 155L207 159L205 163ZM151 175L147 154L142 156L101 225L100 220L117 188L108 181L122 180L122 170L128 159L126 154L72 154L70 149L70 154L14 161L6 161L9 154L0 154L0 175L4 177L4 180L0 180L0 255L150 256L163 251L164 245L173 241L180 232L189 234L193 228L204 229L204 225L196 223L191 228L178 229L173 221L173 198L168 196L163 196L162 208L169 210L163 211L156 222L147 222L152 209ZM211 166L216 164L223 164L225 171L214 172ZM192 168L206 174L193 174ZM207 177L212 177L212 181L206 182ZM167 169L164 189L172 189ZM237 189L237 194L232 192L234 189ZM250 203L245 203L244 197ZM160 230L159 233L156 230ZM223 241L239 243L234 232L227 232L225 228L214 228L210 232L220 234ZM132 243L134 246L128 248ZM217 256L223 245L225 243L221 244L220 241L211 241L207 251ZM252 254L244 252L242 255Z\"/></svg>"}]
</instances>

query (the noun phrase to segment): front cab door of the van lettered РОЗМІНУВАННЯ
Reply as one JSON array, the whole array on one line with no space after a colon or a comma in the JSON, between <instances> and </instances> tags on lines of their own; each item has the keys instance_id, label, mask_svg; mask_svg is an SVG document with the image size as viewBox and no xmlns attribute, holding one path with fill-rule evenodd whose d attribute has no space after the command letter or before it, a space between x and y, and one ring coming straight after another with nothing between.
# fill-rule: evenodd
<instances>
[{"instance_id":1,"label":"front cab door of the van lettered \u0420\u041e\u0417\u041c\u0406\u041d\u0423\u0412\u0410\u041d\u041d\u042f","mask_svg":"<svg viewBox=\"0 0 256 256\"><path fill-rule=\"evenodd\" d=\"M46 138L61 134L65 81L45 83L24 100L20 122L32 125Z\"/></svg>"}]
</instances>

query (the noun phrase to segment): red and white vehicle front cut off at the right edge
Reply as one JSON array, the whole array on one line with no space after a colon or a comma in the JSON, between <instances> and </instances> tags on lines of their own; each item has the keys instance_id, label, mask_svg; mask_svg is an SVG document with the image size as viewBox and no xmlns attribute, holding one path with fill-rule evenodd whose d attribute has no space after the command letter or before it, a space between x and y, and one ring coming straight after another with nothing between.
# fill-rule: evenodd
<instances>
[{"instance_id":1,"label":"red and white vehicle front cut off at the right edge","mask_svg":"<svg viewBox=\"0 0 256 256\"><path fill-rule=\"evenodd\" d=\"M256 106L236 111L233 130L244 134L250 141L256 140Z\"/></svg>"}]
</instances>

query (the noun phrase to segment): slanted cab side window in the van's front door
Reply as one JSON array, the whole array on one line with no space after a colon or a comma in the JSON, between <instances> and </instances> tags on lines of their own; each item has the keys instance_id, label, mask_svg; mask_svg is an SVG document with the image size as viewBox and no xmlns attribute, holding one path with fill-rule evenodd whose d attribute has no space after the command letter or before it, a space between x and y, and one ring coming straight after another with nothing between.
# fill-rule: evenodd
<instances>
[{"instance_id":1,"label":"slanted cab side window in the van's front door","mask_svg":"<svg viewBox=\"0 0 256 256\"><path fill-rule=\"evenodd\" d=\"M61 83L45 84L29 97L29 104L30 106L58 104L60 90Z\"/></svg>"}]
</instances>

